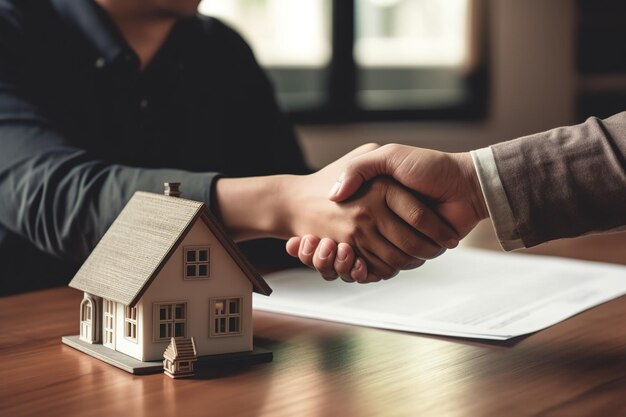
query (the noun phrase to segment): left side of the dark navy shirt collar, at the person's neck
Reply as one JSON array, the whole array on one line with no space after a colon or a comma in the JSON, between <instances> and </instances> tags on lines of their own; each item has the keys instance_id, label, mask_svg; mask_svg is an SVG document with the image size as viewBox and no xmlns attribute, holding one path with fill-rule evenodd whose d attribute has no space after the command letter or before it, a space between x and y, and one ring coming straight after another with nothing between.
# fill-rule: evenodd
<instances>
[{"instance_id":1,"label":"left side of the dark navy shirt collar, at the person's neck","mask_svg":"<svg viewBox=\"0 0 626 417\"><path fill-rule=\"evenodd\" d=\"M105 66L124 55L138 61L111 17L93 0L51 0L61 18L72 25L96 49L96 65Z\"/></svg>"}]
</instances>

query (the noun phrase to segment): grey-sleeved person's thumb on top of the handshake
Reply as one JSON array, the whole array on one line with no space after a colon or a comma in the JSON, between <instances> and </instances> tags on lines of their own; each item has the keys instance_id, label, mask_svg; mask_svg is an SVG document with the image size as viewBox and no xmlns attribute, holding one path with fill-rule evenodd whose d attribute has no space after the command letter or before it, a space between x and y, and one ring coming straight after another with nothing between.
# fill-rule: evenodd
<instances>
[{"instance_id":1,"label":"grey-sleeved person's thumb on top of the handshake","mask_svg":"<svg viewBox=\"0 0 626 417\"><path fill-rule=\"evenodd\" d=\"M328 194L331 201L343 201L354 194L361 184L388 173L387 157L383 148L352 159Z\"/></svg>"}]
</instances>

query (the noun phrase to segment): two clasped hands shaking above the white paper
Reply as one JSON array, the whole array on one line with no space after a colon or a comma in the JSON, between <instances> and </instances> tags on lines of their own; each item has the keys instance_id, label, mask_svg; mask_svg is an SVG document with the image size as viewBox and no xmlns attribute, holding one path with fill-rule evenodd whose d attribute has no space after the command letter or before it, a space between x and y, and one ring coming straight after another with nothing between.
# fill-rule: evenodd
<instances>
[{"instance_id":1,"label":"two clasped hands shaking above the white paper","mask_svg":"<svg viewBox=\"0 0 626 417\"><path fill-rule=\"evenodd\" d=\"M488 217L469 153L368 144L288 188L287 252L328 280L417 268Z\"/></svg>"}]
</instances>

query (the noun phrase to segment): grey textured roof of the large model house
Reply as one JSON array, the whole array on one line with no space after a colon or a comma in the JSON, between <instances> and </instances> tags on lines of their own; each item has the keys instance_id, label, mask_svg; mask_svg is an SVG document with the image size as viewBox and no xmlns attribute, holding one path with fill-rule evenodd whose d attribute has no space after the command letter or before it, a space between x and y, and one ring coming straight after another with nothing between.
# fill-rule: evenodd
<instances>
[{"instance_id":1,"label":"grey textured roof of the large model house","mask_svg":"<svg viewBox=\"0 0 626 417\"><path fill-rule=\"evenodd\" d=\"M204 203L136 192L69 286L133 306L201 219L250 280L254 291L272 289L250 265Z\"/></svg>"}]
</instances>

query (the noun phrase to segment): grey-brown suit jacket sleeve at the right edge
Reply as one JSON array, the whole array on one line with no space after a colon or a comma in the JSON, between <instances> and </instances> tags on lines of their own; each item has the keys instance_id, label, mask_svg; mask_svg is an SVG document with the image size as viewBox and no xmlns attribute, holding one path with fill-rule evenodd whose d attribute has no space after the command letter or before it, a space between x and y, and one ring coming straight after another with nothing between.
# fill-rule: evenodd
<instances>
[{"instance_id":1,"label":"grey-brown suit jacket sleeve at the right edge","mask_svg":"<svg viewBox=\"0 0 626 417\"><path fill-rule=\"evenodd\" d=\"M626 225L626 112L491 151L513 219L507 239L530 247Z\"/></svg>"}]
</instances>

